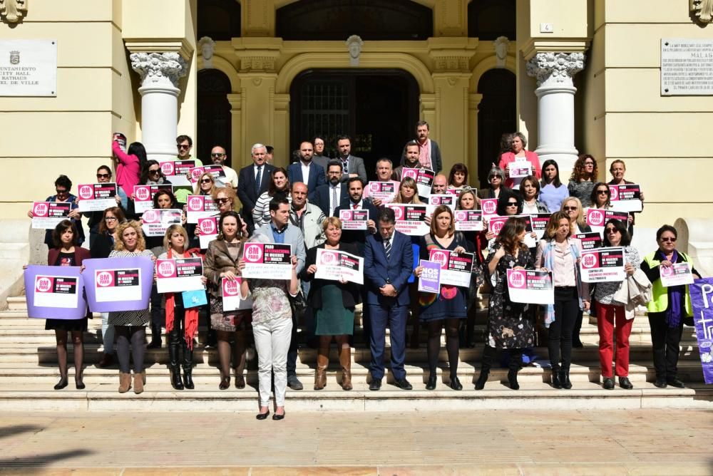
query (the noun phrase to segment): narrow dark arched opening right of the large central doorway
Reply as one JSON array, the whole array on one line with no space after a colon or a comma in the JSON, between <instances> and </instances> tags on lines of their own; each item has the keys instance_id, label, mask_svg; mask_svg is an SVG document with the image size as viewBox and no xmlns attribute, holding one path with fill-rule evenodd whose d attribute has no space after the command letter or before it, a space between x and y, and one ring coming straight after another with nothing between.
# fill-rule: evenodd
<instances>
[{"instance_id":1,"label":"narrow dark arched opening right of the large central doorway","mask_svg":"<svg viewBox=\"0 0 713 476\"><path fill-rule=\"evenodd\" d=\"M483 95L478 105L478 179L486 187L491 165L497 165L501 154L503 134L517 130L515 75L506 69L486 71L478 93Z\"/></svg>"}]
</instances>

